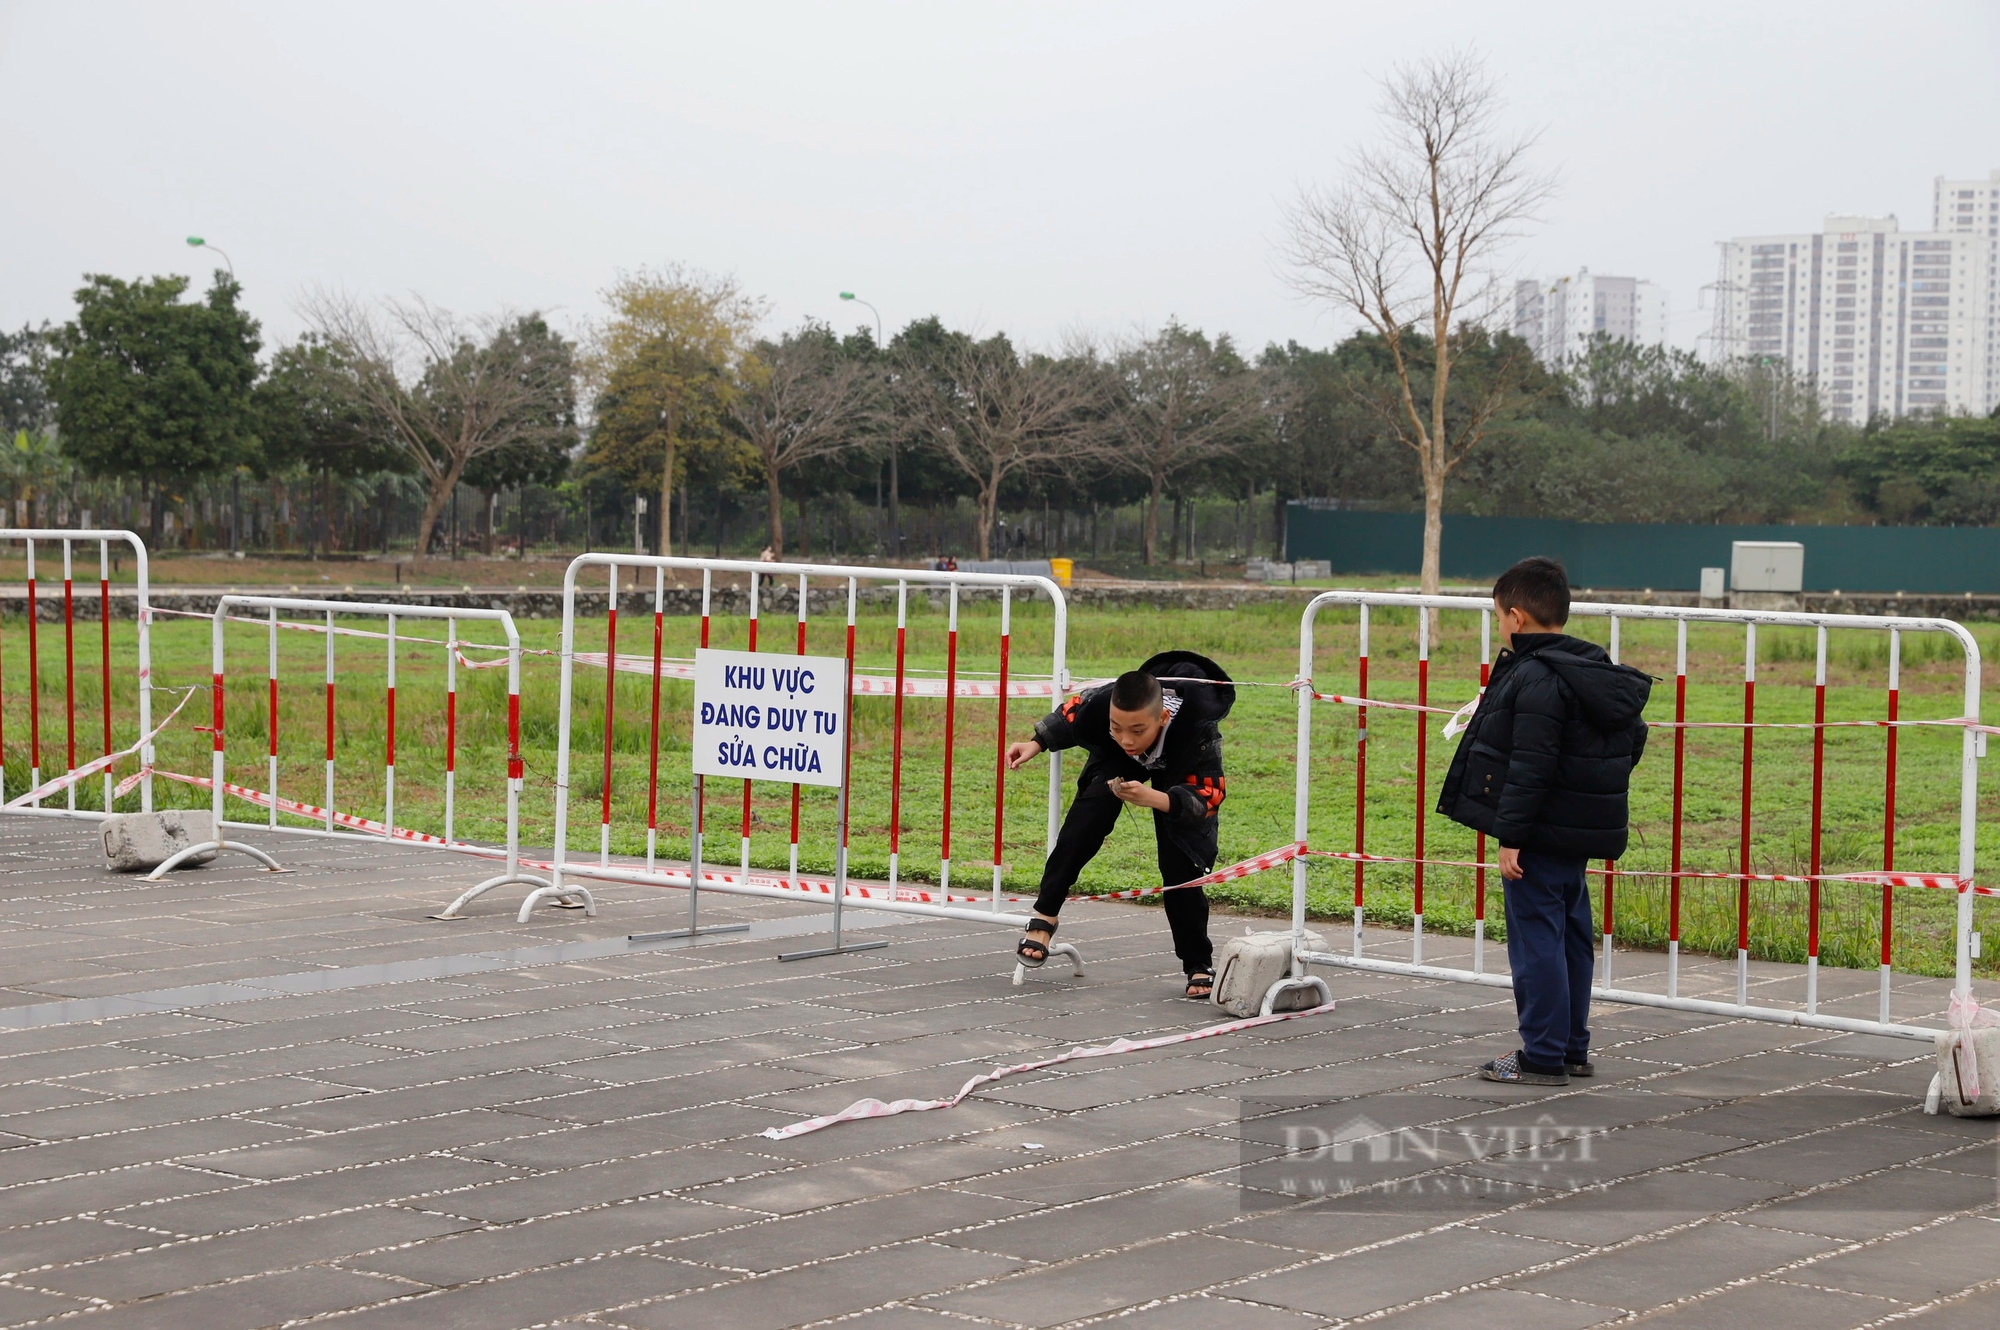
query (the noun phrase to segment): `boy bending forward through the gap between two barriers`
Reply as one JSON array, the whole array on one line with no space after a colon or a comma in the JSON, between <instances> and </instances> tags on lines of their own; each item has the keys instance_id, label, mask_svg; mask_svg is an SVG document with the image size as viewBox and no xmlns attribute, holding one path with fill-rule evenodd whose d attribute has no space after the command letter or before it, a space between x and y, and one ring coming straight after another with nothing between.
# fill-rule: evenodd
<instances>
[{"instance_id":1,"label":"boy bending forward through the gap between two barriers","mask_svg":"<svg viewBox=\"0 0 2000 1330\"><path fill-rule=\"evenodd\" d=\"M1174 682L1162 684L1162 678ZM1056 914L1084 864L1118 826L1126 804L1152 808L1166 886L1214 870L1216 814L1224 798L1218 722L1234 702L1236 688L1214 660L1162 652L1114 682L1070 698L1036 722L1034 738L1008 746L1010 770L1052 748L1084 748L1090 754L1076 778L1076 800L1062 820L1062 834L1042 866L1036 918L1014 948L1024 966L1048 960ZM1216 980L1210 970L1208 896L1190 886L1166 892L1164 904L1174 954L1188 976L1188 996L1208 998Z\"/></svg>"}]
</instances>

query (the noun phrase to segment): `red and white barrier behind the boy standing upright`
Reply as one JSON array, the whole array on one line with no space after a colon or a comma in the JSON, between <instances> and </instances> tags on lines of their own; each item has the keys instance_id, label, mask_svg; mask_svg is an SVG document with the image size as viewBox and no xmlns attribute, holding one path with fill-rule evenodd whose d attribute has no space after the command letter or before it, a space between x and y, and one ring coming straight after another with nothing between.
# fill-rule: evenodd
<instances>
[{"instance_id":1,"label":"red and white barrier behind the boy standing upright","mask_svg":"<svg viewBox=\"0 0 2000 1330\"><path fill-rule=\"evenodd\" d=\"M1358 696L1344 694L1322 694L1310 684L1314 674L1314 620L1322 608L1354 608L1360 618L1358 634ZM1368 660L1370 660L1370 610L1376 608L1400 608L1400 610L1422 610L1414 614L1416 620L1416 704L1408 702L1382 702L1368 696ZM1296 786L1294 786L1294 836L1300 844L1310 840L1312 822L1312 708L1316 702L1332 702L1356 708L1358 730L1354 748L1354 850L1308 850L1292 860L1292 926L1294 932L1302 932L1306 926L1306 860L1308 858L1342 858L1354 864L1354 934L1352 948L1346 956L1330 954L1302 954L1300 964L1294 966L1294 978L1282 980L1266 1000L1266 1010L1270 1000L1290 986L1316 986L1326 990L1324 982L1304 974L1304 962L1350 966L1362 970L1386 970L1396 974L1412 974L1424 978L1452 978L1476 984L1496 984L1506 986L1510 980L1506 976L1488 974L1484 966L1484 930L1486 930L1486 872L1492 864L1486 864L1484 836L1476 838L1476 850L1472 860L1438 860L1426 854L1424 832L1426 816L1432 802L1436 800L1434 782L1428 772L1428 730L1430 716L1438 712L1450 712L1450 706L1430 704L1430 654L1432 642L1430 632L1436 616L1440 614L1478 614L1480 616L1480 668L1476 688L1484 688L1490 672L1492 660L1492 602L1474 600L1460 596L1408 596L1408 594L1378 594L1378 592L1324 592L1306 606L1300 620L1300 646L1298 646L1298 766L1296 766ZM1862 614L1800 614L1800 612L1780 612L1780 610L1696 610L1696 608L1674 608L1674 606L1628 606L1628 604L1586 604L1578 602L1570 606L1572 618L1602 618L1610 624L1610 656L1618 660L1620 656L1620 624L1626 620L1664 620L1676 624L1676 670L1674 670L1674 720L1656 722L1660 728L1672 732L1674 736L1674 774L1672 774L1672 840L1670 840L1670 866L1666 872L1648 872L1646 876L1664 876L1670 880L1668 896L1668 970L1666 970L1666 992L1664 994L1640 994L1630 990L1616 990L1608 986L1612 978L1612 942L1614 942L1614 900L1616 884L1620 876L1632 876L1630 870L1620 870L1616 864L1606 862L1600 870L1592 870L1602 880L1602 928L1604 928L1604 956L1600 962L1598 978L1606 984L1598 988L1596 994L1612 1002L1634 1002L1644 1006L1664 1006L1676 1010L1692 1010L1706 1014L1730 1014L1730 1016L1750 1016L1758 1020L1776 1020L1784 1024L1804 1024L1828 1030L1860 1030L1872 1034L1896 1034L1908 1038L1930 1038L1934 1032L1916 1026L1900 1026L1890 1022L1888 1002L1890 1002L1890 954L1894 940L1894 900L1892 892L1896 888L1918 886L1918 888L1944 888L1958 892L1958 918L1956 918L1956 952L1958 952L1958 990L1970 992L1972 980L1972 958L1970 958L1970 938L1972 938L1972 898L1976 894L1994 894L1988 888L1974 886L1974 818L1978 810L1978 758L1984 750L1984 736L1990 726L1980 724L1980 650L1972 634L1964 626L1942 620L1942 618L1896 618L1896 616L1862 616ZM1744 634L1744 674L1742 674L1742 720L1740 722L1690 722L1688 720L1688 624L1734 624L1742 628ZM1810 628L1816 634L1816 668L1814 668L1814 720L1806 722L1758 722L1756 720L1756 632L1758 626L1782 626L1782 628ZM1826 634L1828 630L1864 630L1864 632L1884 632L1888 634L1888 690L1886 690L1886 716L1882 720L1826 720ZM1964 652L1964 714L1948 720L1934 722L1912 722L1898 714L1900 704L1900 672L1902 672L1902 634L1908 632L1932 632L1944 634L1958 642ZM1414 712L1416 726L1416 798L1412 808L1414 824L1414 852L1410 856L1380 856L1370 854L1366 848L1366 808L1368 808L1368 738L1370 738L1370 710L1394 708ZM1464 708L1458 708L1464 710ZM1898 734L1902 728L1912 724L1934 724L1950 726L1960 730L1960 800L1958 800L1958 870L1956 872L1908 872L1896 868L1896 760L1898 760ZM1804 874L1768 874L1752 872L1752 790L1756 772L1756 732L1760 728L1810 728L1812 730L1812 820L1810 820L1810 842L1808 856L1810 866ZM1884 852L1880 872L1850 872L1850 874L1828 874L1822 872L1822 830L1824 830L1824 794L1826 794L1826 730L1836 726L1882 726L1888 742L1884 752ZM1740 728L1742 730L1742 760L1740 760L1740 786L1738 786L1738 838L1736 838L1736 870L1734 872L1714 872L1714 870L1694 870L1684 862L1684 816L1686 816L1686 734L1690 728ZM1448 730L1450 734L1450 730ZM1654 758L1658 760L1658 758ZM1414 942L1412 956L1408 962L1388 962L1380 958L1364 956L1362 952L1362 918L1364 918L1364 892L1366 892L1366 866L1380 862L1398 862L1412 866L1412 914L1414 914ZM1474 870L1474 952L1472 968L1456 970L1448 966L1426 966L1424 964L1424 868L1438 864L1458 864ZM1736 892L1736 1002L1704 1002L1680 996L1680 922L1682 922L1682 900L1680 888L1684 880L1730 880L1738 884ZM1804 1008L1760 1008L1750 1006L1748 996L1748 972L1750 972L1750 884L1752 882L1796 882L1806 888L1806 994ZM1852 1020L1840 1016L1826 1016L1818 1010L1818 964L1820 964L1820 886L1822 882L1866 882L1882 886L1882 964L1880 964L1880 1002L1876 1020Z\"/></svg>"}]
</instances>

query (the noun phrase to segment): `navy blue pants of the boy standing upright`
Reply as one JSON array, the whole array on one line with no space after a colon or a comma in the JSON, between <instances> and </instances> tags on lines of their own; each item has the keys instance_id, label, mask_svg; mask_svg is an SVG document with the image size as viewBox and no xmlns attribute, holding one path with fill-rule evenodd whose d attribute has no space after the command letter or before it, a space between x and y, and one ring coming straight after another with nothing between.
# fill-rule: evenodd
<instances>
[{"instance_id":1,"label":"navy blue pants of the boy standing upright","mask_svg":"<svg viewBox=\"0 0 2000 1330\"><path fill-rule=\"evenodd\" d=\"M1522 1060L1554 1072L1590 1056L1590 972L1598 928L1584 886L1588 860L1520 852L1522 876L1502 888L1506 962Z\"/></svg>"}]
</instances>

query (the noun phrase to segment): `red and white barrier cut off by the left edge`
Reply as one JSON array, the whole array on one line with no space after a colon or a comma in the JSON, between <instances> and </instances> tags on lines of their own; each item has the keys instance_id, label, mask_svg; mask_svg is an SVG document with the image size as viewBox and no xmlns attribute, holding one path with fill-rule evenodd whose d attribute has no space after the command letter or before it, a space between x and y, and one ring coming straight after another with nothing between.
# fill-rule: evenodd
<instances>
[{"instance_id":1,"label":"red and white barrier cut off by the left edge","mask_svg":"<svg viewBox=\"0 0 2000 1330\"><path fill-rule=\"evenodd\" d=\"M22 542L28 558L28 796L16 798L6 804L8 812L40 812L40 814L62 814L74 818L102 818L112 810L114 796L114 774L112 766L126 758L138 758L138 768L144 772L152 766L152 612L148 608L148 560L146 542L126 530L64 530L64 528L0 528L0 542ZM36 578L36 542L60 544L62 546L62 754L64 754L64 776L74 776L74 780L46 782L42 778L42 632L40 632L40 584ZM114 752L114 708L112 708L112 542L124 544L132 550L132 568L136 576L136 622L138 622L138 644L134 652L132 670L138 680L138 746L134 752ZM98 686L96 692L98 714L102 722L102 740L88 774L102 772L104 792L98 808L78 808L76 790L82 784L84 772L78 764L78 670L76 670L76 568L74 556L76 546L96 546L98 548ZM86 654L90 650L88 642L82 648ZM88 662L84 672L90 672ZM0 784L6 780L6 688L0 680ZM92 698L84 698L88 704ZM82 742L88 746L90 736L84 734ZM142 778L140 786L140 806L152 810L152 780ZM64 794L62 808L44 808L42 800L50 794Z\"/></svg>"}]
</instances>

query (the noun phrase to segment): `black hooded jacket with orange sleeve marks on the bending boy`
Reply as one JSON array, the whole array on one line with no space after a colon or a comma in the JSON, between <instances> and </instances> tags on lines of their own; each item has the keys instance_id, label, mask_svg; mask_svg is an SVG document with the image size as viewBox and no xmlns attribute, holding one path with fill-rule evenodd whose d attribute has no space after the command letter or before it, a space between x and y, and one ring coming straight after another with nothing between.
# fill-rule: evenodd
<instances>
[{"instance_id":1,"label":"black hooded jacket with orange sleeve marks on the bending boy","mask_svg":"<svg viewBox=\"0 0 2000 1330\"><path fill-rule=\"evenodd\" d=\"M1100 684L1076 694L1060 708L1034 722L1034 740L1046 750L1082 748L1090 754L1084 770L1096 776L1150 780L1154 790L1166 790L1172 810L1162 814L1176 822L1206 822L1226 798L1222 782L1222 718L1236 706L1236 686L1208 656L1194 652L1160 652L1140 666L1160 680L1216 680L1214 684L1162 682L1164 694L1180 698L1180 710L1166 726L1166 742L1154 766L1130 756L1112 738L1112 686Z\"/></svg>"}]
</instances>

